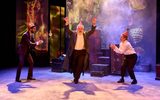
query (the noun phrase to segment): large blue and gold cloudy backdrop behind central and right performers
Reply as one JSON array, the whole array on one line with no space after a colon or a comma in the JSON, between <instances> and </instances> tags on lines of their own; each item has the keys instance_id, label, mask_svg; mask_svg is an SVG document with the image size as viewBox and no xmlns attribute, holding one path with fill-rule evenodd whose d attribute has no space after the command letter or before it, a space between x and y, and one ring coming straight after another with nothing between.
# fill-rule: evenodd
<instances>
[{"instance_id":1,"label":"large blue and gold cloudy backdrop behind central and right performers","mask_svg":"<svg viewBox=\"0 0 160 100\"><path fill-rule=\"evenodd\" d=\"M67 0L70 28L81 20L85 30L97 18L101 31L101 48L118 44L120 35L129 28L129 41L138 54L137 71L155 70L156 64L156 0ZM91 45L91 44L90 44Z\"/></svg>"}]
</instances>

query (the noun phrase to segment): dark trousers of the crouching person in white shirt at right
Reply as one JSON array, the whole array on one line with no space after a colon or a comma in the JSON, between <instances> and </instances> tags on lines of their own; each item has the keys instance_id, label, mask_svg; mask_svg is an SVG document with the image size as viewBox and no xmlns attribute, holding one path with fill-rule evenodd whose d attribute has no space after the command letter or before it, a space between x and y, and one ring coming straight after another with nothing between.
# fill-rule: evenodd
<instances>
[{"instance_id":1,"label":"dark trousers of the crouching person in white shirt at right","mask_svg":"<svg viewBox=\"0 0 160 100\"><path fill-rule=\"evenodd\" d=\"M122 78L126 74L126 69L131 77L131 79L136 79L135 74L134 74L134 66L137 61L137 55L136 54L131 54L131 55L125 55L124 56L124 61L121 67L121 76Z\"/></svg>"}]
</instances>

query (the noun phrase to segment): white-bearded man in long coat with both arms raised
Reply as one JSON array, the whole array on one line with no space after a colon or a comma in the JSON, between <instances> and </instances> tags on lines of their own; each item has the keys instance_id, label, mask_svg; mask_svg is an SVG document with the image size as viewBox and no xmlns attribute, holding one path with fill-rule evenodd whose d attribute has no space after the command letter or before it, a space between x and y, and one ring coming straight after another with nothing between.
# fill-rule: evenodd
<instances>
[{"instance_id":1,"label":"white-bearded man in long coat with both arms raised","mask_svg":"<svg viewBox=\"0 0 160 100\"><path fill-rule=\"evenodd\" d=\"M91 34L94 33L96 28L96 18L92 19L92 27L88 32L84 32L84 25L82 22L77 25L76 32L73 32L69 29L68 17L64 18L64 20L66 25L66 32L70 35L70 43L67 50L66 59L68 59L69 70L73 72L74 83L77 84L81 73L86 70L86 65L89 63L89 58L86 59L89 53L87 39Z\"/></svg>"}]
</instances>

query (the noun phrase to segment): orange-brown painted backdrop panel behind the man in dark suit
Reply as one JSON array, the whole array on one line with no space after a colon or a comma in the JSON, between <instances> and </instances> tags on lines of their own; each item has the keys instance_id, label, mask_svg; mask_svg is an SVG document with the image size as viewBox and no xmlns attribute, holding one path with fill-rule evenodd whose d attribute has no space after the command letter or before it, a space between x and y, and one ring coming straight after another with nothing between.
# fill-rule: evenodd
<instances>
[{"instance_id":1,"label":"orange-brown painted backdrop panel behind the man in dark suit","mask_svg":"<svg viewBox=\"0 0 160 100\"><path fill-rule=\"evenodd\" d=\"M37 27L35 40L44 41L36 50L48 52L48 0L16 0L16 46L30 22Z\"/></svg>"}]
</instances>

